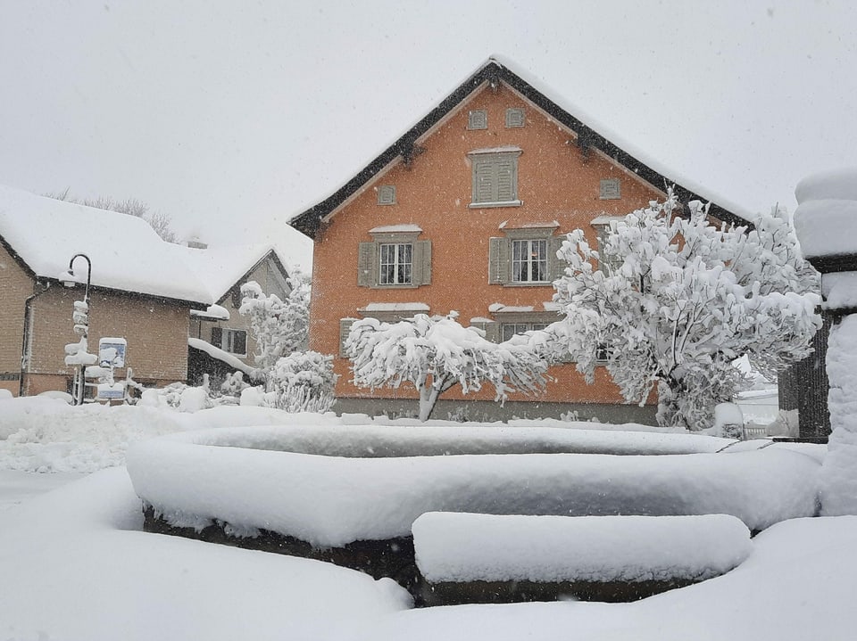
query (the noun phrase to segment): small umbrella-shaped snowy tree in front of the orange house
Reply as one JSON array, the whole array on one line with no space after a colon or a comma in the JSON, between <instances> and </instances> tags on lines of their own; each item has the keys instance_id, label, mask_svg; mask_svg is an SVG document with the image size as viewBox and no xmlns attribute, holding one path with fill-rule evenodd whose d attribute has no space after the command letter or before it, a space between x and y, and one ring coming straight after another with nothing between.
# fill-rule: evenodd
<instances>
[{"instance_id":1,"label":"small umbrella-shaped snowy tree in front of the orange house","mask_svg":"<svg viewBox=\"0 0 857 641\"><path fill-rule=\"evenodd\" d=\"M484 332L463 327L457 316L453 311L398 323L355 322L345 341L354 384L374 390L411 383L420 392L420 421L428 420L437 398L454 385L466 394L488 382L501 401L510 391L544 387L547 362L535 350L521 341L487 341Z\"/></svg>"}]
</instances>

